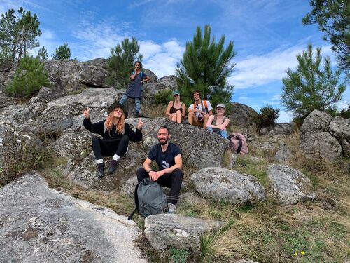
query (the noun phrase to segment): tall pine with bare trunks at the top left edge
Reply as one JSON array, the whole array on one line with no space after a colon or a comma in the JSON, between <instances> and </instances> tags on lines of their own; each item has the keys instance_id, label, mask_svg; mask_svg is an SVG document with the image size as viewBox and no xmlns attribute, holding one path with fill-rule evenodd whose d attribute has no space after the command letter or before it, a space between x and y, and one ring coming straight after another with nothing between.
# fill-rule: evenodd
<instances>
[{"instance_id":1,"label":"tall pine with bare trunks at the top left edge","mask_svg":"<svg viewBox=\"0 0 350 263\"><path fill-rule=\"evenodd\" d=\"M20 7L18 15L16 17L15 10L9 9L1 14L0 20L0 49L8 53L11 61L20 60L31 48L39 46L36 36L41 36L36 14L31 15Z\"/></svg>"}]
</instances>

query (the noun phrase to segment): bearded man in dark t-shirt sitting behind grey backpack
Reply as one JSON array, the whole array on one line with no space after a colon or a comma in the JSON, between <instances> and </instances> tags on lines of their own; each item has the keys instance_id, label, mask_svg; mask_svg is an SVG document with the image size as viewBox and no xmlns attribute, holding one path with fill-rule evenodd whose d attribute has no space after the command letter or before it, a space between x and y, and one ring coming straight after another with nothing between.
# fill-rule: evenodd
<instances>
[{"instance_id":1,"label":"bearded man in dark t-shirt sitting behind grey backpack","mask_svg":"<svg viewBox=\"0 0 350 263\"><path fill-rule=\"evenodd\" d=\"M167 126L158 129L159 144L153 146L144 161L144 165L137 170L137 180L144 178L158 182L162 187L171 188L167 197L168 213L175 213L182 184L182 157L178 146L169 142L170 131ZM158 171L151 168L152 161L158 164Z\"/></svg>"}]
</instances>

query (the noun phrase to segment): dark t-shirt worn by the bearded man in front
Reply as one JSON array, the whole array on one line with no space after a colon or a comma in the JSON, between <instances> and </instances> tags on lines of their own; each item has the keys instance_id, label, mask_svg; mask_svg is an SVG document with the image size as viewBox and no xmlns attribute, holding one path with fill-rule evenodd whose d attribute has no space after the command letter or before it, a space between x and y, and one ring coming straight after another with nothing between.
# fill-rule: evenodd
<instances>
[{"instance_id":1,"label":"dark t-shirt worn by the bearded man in front","mask_svg":"<svg viewBox=\"0 0 350 263\"><path fill-rule=\"evenodd\" d=\"M148 158L152 161L158 163L159 170L163 170L169 167L174 166L175 157L181 154L181 150L174 143L169 142L167 151L162 152L162 147L160 144L157 144L151 148L148 153Z\"/></svg>"}]
</instances>

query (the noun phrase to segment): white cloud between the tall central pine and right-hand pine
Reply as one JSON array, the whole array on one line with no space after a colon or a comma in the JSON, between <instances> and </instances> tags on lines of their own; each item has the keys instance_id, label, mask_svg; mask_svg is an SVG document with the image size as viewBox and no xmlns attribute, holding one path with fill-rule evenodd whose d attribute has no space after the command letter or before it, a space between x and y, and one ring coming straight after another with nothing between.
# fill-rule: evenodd
<instances>
[{"instance_id":1,"label":"white cloud between the tall central pine and right-hand pine","mask_svg":"<svg viewBox=\"0 0 350 263\"><path fill-rule=\"evenodd\" d=\"M286 49L276 49L264 55L251 55L237 62L236 70L228 78L236 89L260 86L273 81L281 81L286 76L288 67L297 66L297 53L302 53L307 46L297 45ZM322 54L328 55L330 46L322 48Z\"/></svg>"}]
</instances>

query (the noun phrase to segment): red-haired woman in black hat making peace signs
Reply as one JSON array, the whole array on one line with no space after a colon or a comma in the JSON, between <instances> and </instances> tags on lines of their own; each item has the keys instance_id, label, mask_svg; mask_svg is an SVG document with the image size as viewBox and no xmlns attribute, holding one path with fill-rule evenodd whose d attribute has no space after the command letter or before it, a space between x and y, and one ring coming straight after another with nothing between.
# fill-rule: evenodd
<instances>
[{"instance_id":1,"label":"red-haired woman in black hat making peace signs","mask_svg":"<svg viewBox=\"0 0 350 263\"><path fill-rule=\"evenodd\" d=\"M108 116L106 120L98 123L91 123L90 108L83 111L85 119L83 121L84 127L91 133L97 133L102 136L94 136L92 138L92 150L97 163L97 177L104 177L104 156L113 156L111 166L109 167L109 174L113 174L117 168L117 162L120 156L127 152L129 141L139 142L142 140L142 123L141 118L137 124L136 131L133 131L129 124L125 122L127 118L127 110L123 104L114 102L109 107Z\"/></svg>"}]
</instances>

